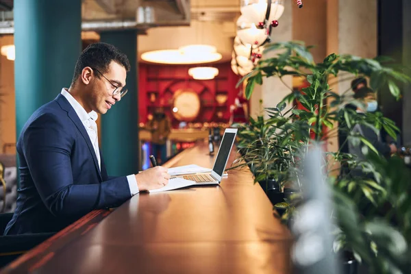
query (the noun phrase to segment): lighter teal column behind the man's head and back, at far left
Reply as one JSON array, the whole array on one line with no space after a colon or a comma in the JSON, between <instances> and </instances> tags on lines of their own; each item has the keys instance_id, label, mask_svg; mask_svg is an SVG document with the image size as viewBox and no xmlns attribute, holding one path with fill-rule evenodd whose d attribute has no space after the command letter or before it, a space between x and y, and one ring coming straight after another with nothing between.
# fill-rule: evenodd
<instances>
[{"instance_id":1,"label":"lighter teal column behind the man's head and back, at far left","mask_svg":"<svg viewBox=\"0 0 411 274\"><path fill-rule=\"evenodd\" d=\"M71 84L82 50L82 0L14 0L17 138L29 116Z\"/></svg>"}]
</instances>

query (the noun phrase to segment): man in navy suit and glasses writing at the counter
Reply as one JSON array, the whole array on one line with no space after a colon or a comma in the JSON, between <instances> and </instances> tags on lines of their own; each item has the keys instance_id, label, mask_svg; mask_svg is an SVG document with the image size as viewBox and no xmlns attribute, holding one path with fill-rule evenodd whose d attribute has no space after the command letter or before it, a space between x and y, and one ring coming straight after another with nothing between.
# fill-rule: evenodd
<instances>
[{"instance_id":1,"label":"man in navy suit and glasses writing at the counter","mask_svg":"<svg viewBox=\"0 0 411 274\"><path fill-rule=\"evenodd\" d=\"M139 191L168 184L162 166L109 177L101 158L97 113L105 114L125 95L129 69L116 47L90 45L77 60L70 88L25 123L17 142L17 206L5 235L58 232L92 210L119 206Z\"/></svg>"}]
</instances>

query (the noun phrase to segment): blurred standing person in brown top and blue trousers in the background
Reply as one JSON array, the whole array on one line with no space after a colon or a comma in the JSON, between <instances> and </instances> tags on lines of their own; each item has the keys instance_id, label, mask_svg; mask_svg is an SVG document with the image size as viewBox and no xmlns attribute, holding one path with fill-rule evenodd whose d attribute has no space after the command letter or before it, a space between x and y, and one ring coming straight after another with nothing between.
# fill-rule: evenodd
<instances>
[{"instance_id":1,"label":"blurred standing person in brown top and blue trousers in the background","mask_svg":"<svg viewBox=\"0 0 411 274\"><path fill-rule=\"evenodd\" d=\"M147 123L147 129L151 132L151 153L162 164L167 160L166 141L171 133L171 122L163 108L155 109L153 119Z\"/></svg>"}]
</instances>

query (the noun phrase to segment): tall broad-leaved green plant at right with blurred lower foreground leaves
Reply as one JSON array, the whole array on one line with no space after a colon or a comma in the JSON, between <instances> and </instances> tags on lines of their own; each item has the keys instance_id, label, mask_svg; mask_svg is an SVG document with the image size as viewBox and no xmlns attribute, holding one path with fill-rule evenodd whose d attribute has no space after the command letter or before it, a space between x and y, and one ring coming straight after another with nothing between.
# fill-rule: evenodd
<instances>
[{"instance_id":1,"label":"tall broad-leaved green plant at right with blurred lower foreground leaves","mask_svg":"<svg viewBox=\"0 0 411 274\"><path fill-rule=\"evenodd\" d=\"M397 83L409 83L411 82L410 77L388 66L384 66L382 63L384 60L381 58L368 59L353 55L331 54L323 62L316 64L313 61L309 48L305 47L301 42L271 44L266 47L265 53L269 51L277 51L277 55L266 60L260 60L256 69L246 75L242 81L247 79L246 96L249 98L255 84L262 84L264 77L279 77L281 80L287 75L306 77L309 86L303 88L301 92L290 88L290 94L283 100L283 102L297 100L305 108L305 110L291 110L293 123L288 123L292 125L290 127L290 136L292 138L288 140L290 143L295 144L299 142L309 147L310 142L312 142L310 133L314 133L314 140L316 142L327 141L329 138L336 136L338 132L338 127L334 127L334 125L341 123L345 125L344 129L347 131L347 140L357 145L362 143L369 148L369 151L374 153L373 155L376 158L382 159L369 140L366 140L360 134L354 134L351 129L356 124L371 127L375 132L384 128L390 136L395 138L398 128L393 121L385 118L379 112L360 115L356 111L344 108L346 103L353 103L358 106L362 105L362 103L349 99L347 97L349 90L341 90L341 92L336 93L332 90L332 87L338 84L338 82L364 76L369 77L371 88L377 90L382 86L388 86L392 95L399 99L400 92ZM344 73L345 76L335 80L334 77L341 75L340 73ZM324 130L325 128L327 130ZM342 129L340 127L340 130ZM301 132L304 134L301 134ZM273 136L273 138L279 137ZM302 152L301 157L303 157L303 154ZM334 191L336 214L334 216L337 216L336 223L338 223L340 229L337 238L337 242L340 245L337 246L350 249L357 255L359 260L362 258L364 261L369 262L369 264L373 264L375 260L384 259L375 264L382 267L374 268L374 270L385 273L384 271L386 271L387 266L392 266L397 261L393 260L393 257L395 257L393 254L395 253L391 252L393 251L391 248L392 241L386 240L384 242L384 239L382 240L379 237L384 238L387 233L389 234L394 230L401 231L401 229L393 228L387 221L380 221L378 219L379 215L376 214L382 203L386 204L388 202L388 206L391 208L399 209L395 206L395 201L389 200L390 195L393 195L393 190L390 190L390 187L393 187L393 185L388 186L388 183L384 181L384 179L389 178L388 173L381 173L381 171L386 171L382 166L386 168L389 164L377 162L375 159L373 161L360 162L357 160L356 155L341 153L340 151L329 152L328 154L334 158L334 162L324 160L324 168L327 171L333 170L332 164L329 163L344 162L349 164L351 168L362 166L364 171L368 171L374 177L374 179L366 179L340 176L332 179L333 186L336 186ZM301 175L298 162L292 162L288 171L295 173L294 175L297 178ZM392 176L393 174L390 175ZM398 190L399 186L394 188ZM401 190L405 189L402 188ZM410 203L408 196L402 196L401 198L403 203ZM358 208L359 201L364 200L369 201L371 210L368 208L366 211L361 211ZM283 206L288 211L296 211L292 202L284 203ZM405 215L405 213L401 214ZM287 216L290 216L290 214L287 214ZM384 227L383 231L377 229L377 224ZM401 232L408 233L405 230ZM364 236L367 237L365 240ZM388 255L382 256L383 253ZM401 267L398 268L401 269Z\"/></svg>"}]
</instances>

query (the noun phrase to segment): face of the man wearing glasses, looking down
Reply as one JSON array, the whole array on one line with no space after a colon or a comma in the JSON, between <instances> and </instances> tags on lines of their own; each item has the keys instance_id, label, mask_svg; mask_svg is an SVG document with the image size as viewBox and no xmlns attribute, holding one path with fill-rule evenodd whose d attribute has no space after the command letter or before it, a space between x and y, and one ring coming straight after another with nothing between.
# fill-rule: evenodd
<instances>
[{"instance_id":1,"label":"face of the man wearing glasses, looking down","mask_svg":"<svg viewBox=\"0 0 411 274\"><path fill-rule=\"evenodd\" d=\"M89 100L90 109L99 114L105 114L112 108L114 103L120 101L120 93L113 95L113 92L116 88L119 91L125 86L127 71L125 71L123 66L112 61L108 66L108 71L103 73L103 75L98 71L93 71L93 74L94 81Z\"/></svg>"}]
</instances>

